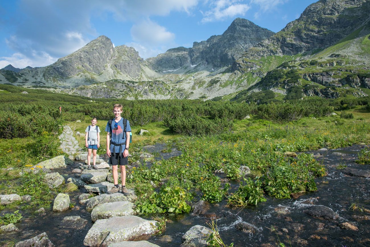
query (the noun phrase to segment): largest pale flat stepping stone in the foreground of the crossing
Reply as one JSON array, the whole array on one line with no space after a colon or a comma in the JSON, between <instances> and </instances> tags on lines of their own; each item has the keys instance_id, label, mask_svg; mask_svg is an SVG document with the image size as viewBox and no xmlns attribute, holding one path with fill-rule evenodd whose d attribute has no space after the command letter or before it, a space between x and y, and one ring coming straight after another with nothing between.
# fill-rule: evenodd
<instances>
[{"instance_id":1,"label":"largest pale flat stepping stone in the foreground of the crossing","mask_svg":"<svg viewBox=\"0 0 370 247\"><path fill-rule=\"evenodd\" d=\"M142 235L155 233L155 220L144 220L138 216L114 216L97 220L88 231L84 245L107 247L113 243L134 239Z\"/></svg>"}]
</instances>

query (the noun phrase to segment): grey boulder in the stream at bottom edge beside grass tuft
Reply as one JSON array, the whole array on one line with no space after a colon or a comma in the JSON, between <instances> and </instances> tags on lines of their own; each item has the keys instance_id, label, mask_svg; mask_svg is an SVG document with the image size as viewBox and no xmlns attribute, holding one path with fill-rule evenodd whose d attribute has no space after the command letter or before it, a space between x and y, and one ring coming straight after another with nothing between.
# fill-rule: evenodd
<instances>
[{"instance_id":1,"label":"grey boulder in the stream at bottom edge beside grass tuft","mask_svg":"<svg viewBox=\"0 0 370 247\"><path fill-rule=\"evenodd\" d=\"M205 226L193 226L182 236L181 247L203 247L208 246L205 238L212 233L212 230Z\"/></svg>"}]
</instances>

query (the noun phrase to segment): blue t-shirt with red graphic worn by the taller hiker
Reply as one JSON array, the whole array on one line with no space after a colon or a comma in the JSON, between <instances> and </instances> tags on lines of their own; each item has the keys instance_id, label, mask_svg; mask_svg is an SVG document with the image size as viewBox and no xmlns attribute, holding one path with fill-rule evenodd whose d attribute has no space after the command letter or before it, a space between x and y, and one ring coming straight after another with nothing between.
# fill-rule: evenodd
<instances>
[{"instance_id":1,"label":"blue t-shirt with red graphic worn by the taller hiker","mask_svg":"<svg viewBox=\"0 0 370 247\"><path fill-rule=\"evenodd\" d=\"M115 124L116 124L116 121L113 119L111 128L109 127L109 122L107 123L107 126L105 127L105 131L107 132L111 132L112 130L111 145L109 147L112 153L113 152L118 153L120 151L120 146L114 146L112 143L115 143L115 144L125 143L124 145L121 146L121 152L123 152L126 147L126 134L123 132L124 130L123 117L120 119L120 121L117 122L117 127L115 127L116 126ZM126 132L129 132L129 131L131 131L131 127L130 127L129 121L127 120Z\"/></svg>"}]
</instances>

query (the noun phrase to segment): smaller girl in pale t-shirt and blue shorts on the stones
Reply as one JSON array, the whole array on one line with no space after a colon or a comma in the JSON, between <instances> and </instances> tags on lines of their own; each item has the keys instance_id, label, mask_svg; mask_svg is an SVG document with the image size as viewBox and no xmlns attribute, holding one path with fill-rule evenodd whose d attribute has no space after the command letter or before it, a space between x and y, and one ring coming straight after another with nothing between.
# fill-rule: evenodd
<instances>
[{"instance_id":1,"label":"smaller girl in pale t-shirt and blue shorts on the stones","mask_svg":"<svg viewBox=\"0 0 370 247\"><path fill-rule=\"evenodd\" d=\"M97 126L98 120L94 117L91 120L91 125L86 127L85 146L87 147L87 169L91 169L90 159L92 151L92 166L95 166L96 152L100 147L100 128ZM97 169L94 167L94 169Z\"/></svg>"}]
</instances>

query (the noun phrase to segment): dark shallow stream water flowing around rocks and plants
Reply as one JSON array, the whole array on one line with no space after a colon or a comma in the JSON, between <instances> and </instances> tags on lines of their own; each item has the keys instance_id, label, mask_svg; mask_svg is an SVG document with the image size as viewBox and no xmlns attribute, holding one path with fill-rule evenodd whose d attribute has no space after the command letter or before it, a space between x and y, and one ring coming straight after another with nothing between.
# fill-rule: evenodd
<instances>
[{"instance_id":1,"label":"dark shallow stream water flowing around rocks and plants","mask_svg":"<svg viewBox=\"0 0 370 247\"><path fill-rule=\"evenodd\" d=\"M162 153L161 150L165 148L166 144L156 144L147 147L147 151L156 153L157 159L181 154L175 148L172 148L170 153ZM363 147L351 146L311 152L322 154L316 157L323 162L328 172L326 177L316 178L316 192L305 193L296 200L266 196L266 202L245 208L226 207L226 200L223 200L221 203L209 204L206 216L169 215L166 231L159 236L150 237L148 241L162 247L179 246L181 237L189 228L194 225L207 226L213 217L218 218L217 226L224 243L233 242L234 246L277 246L280 242L285 246L370 246L370 214L349 209L352 203L370 208L370 179L348 176L344 174L344 169L337 169L338 164L345 164L347 168L370 170L369 165L354 162L361 148ZM65 178L73 177L71 167L55 171ZM238 184L238 181L233 182L232 189L235 190ZM78 204L78 196L82 190L70 194L71 202L76 205L73 209L63 213L54 213L47 209L44 216L36 213L24 214L25 218L17 225L20 231L2 235L0 239L12 237L24 240L45 231L55 246L83 246L84 237L92 222L90 212L85 210L85 206ZM331 208L339 214L339 218L323 220L307 215L304 211L312 204ZM65 216L76 215L88 220L82 230L60 227ZM367 216L367 219L363 215ZM342 222L351 222L359 230L342 229L338 226ZM244 223L245 231L236 229L240 223ZM276 231L271 231L272 227Z\"/></svg>"}]
</instances>

